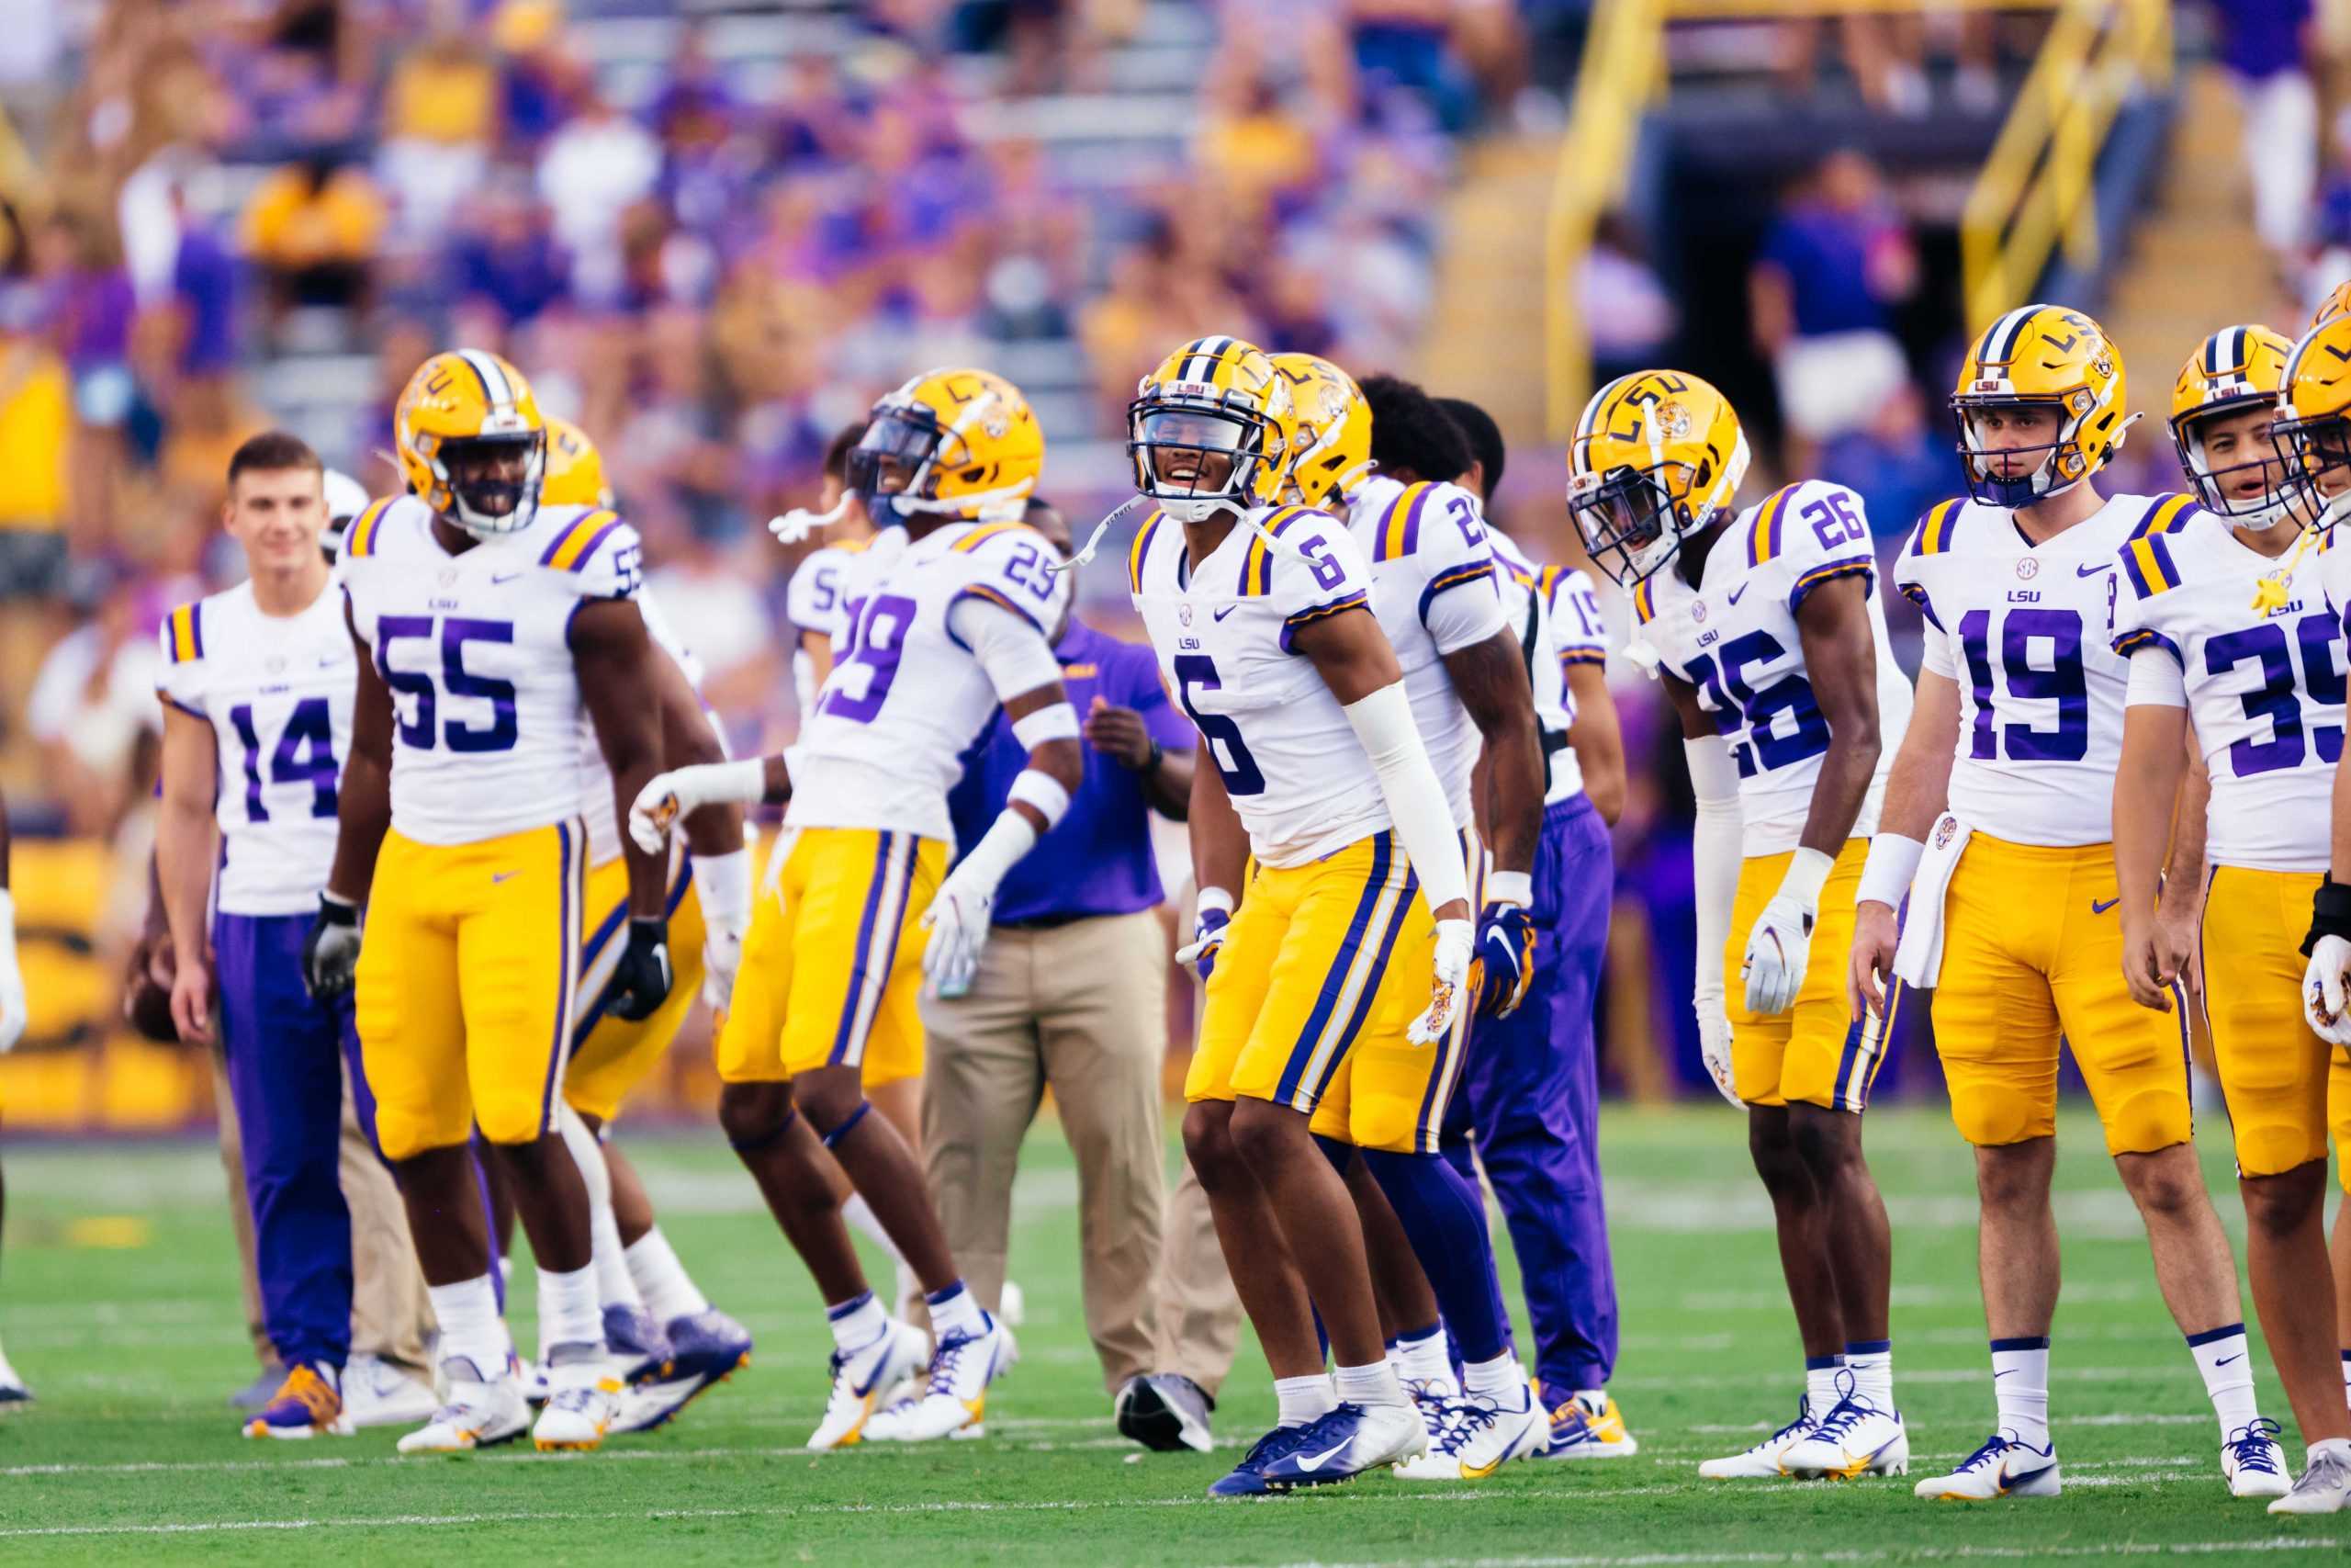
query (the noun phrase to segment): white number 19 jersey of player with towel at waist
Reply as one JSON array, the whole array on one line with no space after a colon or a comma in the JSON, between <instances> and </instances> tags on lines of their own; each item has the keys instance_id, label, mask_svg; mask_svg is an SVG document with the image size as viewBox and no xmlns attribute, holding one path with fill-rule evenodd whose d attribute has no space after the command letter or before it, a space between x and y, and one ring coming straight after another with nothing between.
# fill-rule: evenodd
<instances>
[{"instance_id":1,"label":"white number 19 jersey of player with towel at waist","mask_svg":"<svg viewBox=\"0 0 2351 1568\"><path fill-rule=\"evenodd\" d=\"M2041 846L2114 839L2130 672L2114 651L2116 552L2186 505L2109 496L2041 545L1975 501L1918 520L1895 585L1925 616L1923 668L1958 684L1949 806L1968 827Z\"/></svg>"}]
</instances>

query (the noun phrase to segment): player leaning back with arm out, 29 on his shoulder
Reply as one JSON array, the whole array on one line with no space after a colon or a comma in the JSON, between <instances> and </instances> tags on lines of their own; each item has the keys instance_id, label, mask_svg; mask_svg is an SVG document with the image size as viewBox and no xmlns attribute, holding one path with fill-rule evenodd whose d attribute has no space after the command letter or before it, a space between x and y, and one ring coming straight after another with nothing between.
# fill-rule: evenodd
<instances>
[{"instance_id":1,"label":"player leaning back with arm out, 29 on his shoulder","mask_svg":"<svg viewBox=\"0 0 2351 1568\"><path fill-rule=\"evenodd\" d=\"M1081 776L1077 710L1046 639L1067 585L1051 545L1018 522L1044 468L1020 388L980 369L915 376L875 404L849 463L884 527L846 574L846 654L799 743L663 773L630 818L630 835L658 846L677 811L790 802L790 849L752 917L717 1058L726 1138L832 1321L832 1394L809 1448L860 1441L877 1396L926 1349L865 1286L820 1150L915 1269L938 1333L929 1387L891 1436L978 1425L987 1385L1011 1366L1011 1331L957 1274L922 1166L868 1114L860 1074L922 1072L917 985L969 985L997 884L1060 820ZM947 790L999 703L1027 771L947 872Z\"/></svg>"}]
</instances>

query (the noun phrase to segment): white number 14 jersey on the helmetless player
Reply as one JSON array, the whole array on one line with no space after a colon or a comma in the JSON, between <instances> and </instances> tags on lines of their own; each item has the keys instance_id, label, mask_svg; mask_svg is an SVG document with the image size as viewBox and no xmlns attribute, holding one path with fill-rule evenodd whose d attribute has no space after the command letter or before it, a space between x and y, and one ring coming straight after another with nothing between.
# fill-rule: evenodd
<instances>
[{"instance_id":1,"label":"white number 14 jersey on the helmetless player","mask_svg":"<svg viewBox=\"0 0 2351 1568\"><path fill-rule=\"evenodd\" d=\"M334 867L336 783L350 755L360 656L329 585L266 616L237 583L162 623L162 701L212 724L221 778L223 914L310 914Z\"/></svg>"}]
</instances>

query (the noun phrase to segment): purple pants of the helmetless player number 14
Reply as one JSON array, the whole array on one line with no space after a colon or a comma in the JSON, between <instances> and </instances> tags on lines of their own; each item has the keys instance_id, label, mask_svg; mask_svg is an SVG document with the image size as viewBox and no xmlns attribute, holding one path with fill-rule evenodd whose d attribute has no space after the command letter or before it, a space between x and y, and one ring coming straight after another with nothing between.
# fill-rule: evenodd
<instances>
[{"instance_id":1,"label":"purple pants of the helmetless player number 14","mask_svg":"<svg viewBox=\"0 0 2351 1568\"><path fill-rule=\"evenodd\" d=\"M228 1093L245 1138L261 1319L287 1366L350 1354L350 1208L343 1204L343 1063L374 1128L350 994L315 1001L301 980L308 914L216 914L214 973Z\"/></svg>"}]
</instances>

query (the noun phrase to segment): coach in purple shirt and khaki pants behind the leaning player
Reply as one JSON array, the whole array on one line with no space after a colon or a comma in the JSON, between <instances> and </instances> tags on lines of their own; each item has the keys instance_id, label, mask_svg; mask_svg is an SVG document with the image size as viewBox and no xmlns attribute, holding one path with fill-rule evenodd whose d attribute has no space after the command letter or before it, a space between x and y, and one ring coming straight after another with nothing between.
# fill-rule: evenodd
<instances>
[{"instance_id":1,"label":"coach in purple shirt and khaki pants behind the leaning player","mask_svg":"<svg viewBox=\"0 0 2351 1568\"><path fill-rule=\"evenodd\" d=\"M1030 501L1027 524L1067 559L1060 512ZM994 1312L1020 1138L1053 1088L1077 1154L1086 1333L1117 1394L1152 1371L1166 1187L1168 947L1152 912L1164 893L1150 813L1183 820L1194 738L1150 649L1077 616L1053 630L1060 682L1084 715L1086 778L1070 813L997 889L971 990L922 999L931 1058L922 1143L947 1248ZM1023 766L1025 748L999 712L947 797L959 844L994 820Z\"/></svg>"}]
</instances>

